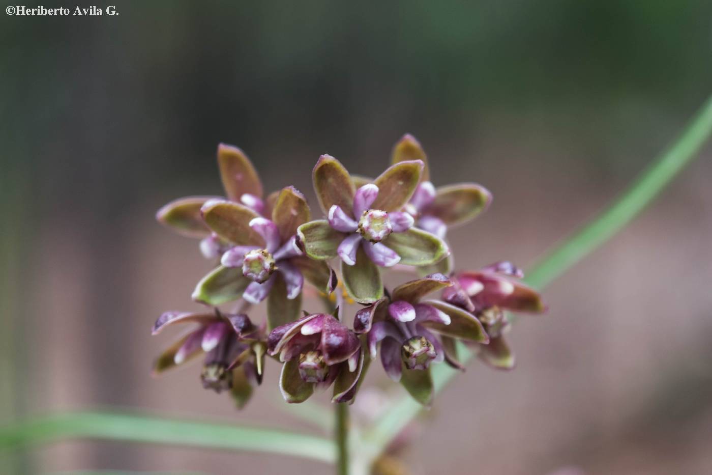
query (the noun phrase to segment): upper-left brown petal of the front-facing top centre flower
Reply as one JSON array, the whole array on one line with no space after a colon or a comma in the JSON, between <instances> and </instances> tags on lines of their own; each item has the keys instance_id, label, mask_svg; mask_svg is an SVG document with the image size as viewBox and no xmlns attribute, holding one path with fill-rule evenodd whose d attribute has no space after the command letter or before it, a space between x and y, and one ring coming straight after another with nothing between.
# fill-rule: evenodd
<instances>
[{"instance_id":1,"label":"upper-left brown petal of the front-facing top centre flower","mask_svg":"<svg viewBox=\"0 0 712 475\"><path fill-rule=\"evenodd\" d=\"M355 188L344 165L331 155L321 155L312 172L314 190L324 213L333 205L353 209Z\"/></svg>"}]
</instances>

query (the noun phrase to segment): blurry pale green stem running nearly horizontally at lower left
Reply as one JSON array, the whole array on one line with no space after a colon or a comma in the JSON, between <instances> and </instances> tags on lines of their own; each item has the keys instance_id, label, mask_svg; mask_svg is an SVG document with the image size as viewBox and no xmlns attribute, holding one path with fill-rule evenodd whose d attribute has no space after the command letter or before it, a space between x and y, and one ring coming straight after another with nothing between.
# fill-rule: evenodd
<instances>
[{"instance_id":1,"label":"blurry pale green stem running nearly horizontally at lower left","mask_svg":"<svg viewBox=\"0 0 712 475\"><path fill-rule=\"evenodd\" d=\"M333 463L333 443L323 437L281 429L144 417L131 414L75 412L0 428L0 449L44 444L60 439L112 439L271 452Z\"/></svg>"}]
</instances>

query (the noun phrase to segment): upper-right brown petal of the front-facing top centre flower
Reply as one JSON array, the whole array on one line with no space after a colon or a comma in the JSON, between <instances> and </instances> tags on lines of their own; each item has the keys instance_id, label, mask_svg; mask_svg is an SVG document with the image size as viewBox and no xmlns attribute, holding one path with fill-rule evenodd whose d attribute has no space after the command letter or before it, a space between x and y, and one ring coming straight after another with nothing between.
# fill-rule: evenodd
<instances>
[{"instance_id":1,"label":"upper-right brown petal of the front-facing top centre flower","mask_svg":"<svg viewBox=\"0 0 712 475\"><path fill-rule=\"evenodd\" d=\"M422 170L423 162L420 160L391 165L374 182L379 193L371 208L384 211L398 211L403 208L418 186Z\"/></svg>"}]
</instances>

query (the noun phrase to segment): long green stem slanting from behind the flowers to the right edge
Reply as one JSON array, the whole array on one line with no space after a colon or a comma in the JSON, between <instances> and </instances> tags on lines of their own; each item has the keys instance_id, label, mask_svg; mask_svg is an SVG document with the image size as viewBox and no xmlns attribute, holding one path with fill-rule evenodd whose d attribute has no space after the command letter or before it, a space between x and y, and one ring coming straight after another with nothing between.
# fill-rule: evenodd
<instances>
[{"instance_id":1,"label":"long green stem slanting from behind the flowers to the right edge","mask_svg":"<svg viewBox=\"0 0 712 475\"><path fill-rule=\"evenodd\" d=\"M578 233L567 238L544 257L526 279L530 285L543 288L570 269L577 262L600 247L624 228L638 213L649 205L671 180L691 162L712 133L712 96L693 118L682 136L657 158L628 190L598 218ZM459 345L461 361L467 362L472 354ZM459 372L445 364L431 370L435 392L439 392ZM364 436L366 456L373 461L382 449L396 437L422 407L408 396L384 412L384 417Z\"/></svg>"}]
</instances>

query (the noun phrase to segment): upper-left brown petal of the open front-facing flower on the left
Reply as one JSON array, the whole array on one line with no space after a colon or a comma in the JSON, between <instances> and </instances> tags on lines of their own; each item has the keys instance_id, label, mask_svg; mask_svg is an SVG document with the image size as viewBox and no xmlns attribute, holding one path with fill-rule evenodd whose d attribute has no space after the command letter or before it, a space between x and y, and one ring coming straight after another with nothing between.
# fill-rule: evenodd
<instances>
[{"instance_id":1,"label":"upper-left brown petal of the open front-facing flower on the left","mask_svg":"<svg viewBox=\"0 0 712 475\"><path fill-rule=\"evenodd\" d=\"M209 200L201 208L203 219L216 235L238 245L263 248L264 240L250 228L259 215L245 205L225 200Z\"/></svg>"}]
</instances>

